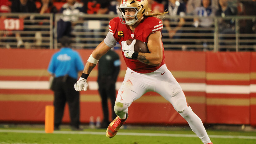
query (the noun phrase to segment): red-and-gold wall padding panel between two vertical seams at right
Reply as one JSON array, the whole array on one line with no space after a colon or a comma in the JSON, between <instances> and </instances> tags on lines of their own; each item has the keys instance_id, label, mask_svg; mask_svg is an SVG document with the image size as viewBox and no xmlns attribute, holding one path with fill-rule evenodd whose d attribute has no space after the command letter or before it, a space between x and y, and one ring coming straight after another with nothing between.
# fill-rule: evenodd
<instances>
[{"instance_id":1,"label":"red-and-gold wall padding panel between two vertical seams at right","mask_svg":"<svg viewBox=\"0 0 256 144\"><path fill-rule=\"evenodd\" d=\"M206 53L206 72L223 74L248 74L250 72L250 53L249 52L207 52ZM206 84L210 85L249 85L249 79L206 79ZM249 124L250 107L249 103L243 105L226 105L218 101L229 103L234 98L248 99L248 94L221 94L207 93L207 122L226 123L226 124ZM211 102L218 99L217 102Z\"/></svg>"}]
</instances>

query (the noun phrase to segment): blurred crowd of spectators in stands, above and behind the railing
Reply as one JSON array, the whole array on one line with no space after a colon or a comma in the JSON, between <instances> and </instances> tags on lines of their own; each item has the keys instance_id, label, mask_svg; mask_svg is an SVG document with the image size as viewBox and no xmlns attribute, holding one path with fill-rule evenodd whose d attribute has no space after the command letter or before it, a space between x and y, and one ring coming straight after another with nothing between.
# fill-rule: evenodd
<instances>
[{"instance_id":1,"label":"blurred crowd of spectators in stands, above and behind the railing","mask_svg":"<svg viewBox=\"0 0 256 144\"><path fill-rule=\"evenodd\" d=\"M1 0L0 12L15 12L15 13L63 13L64 15L71 14L113 14L118 15L118 7L121 0ZM190 20L193 27L214 27L214 20L211 16L235 16L247 15L255 16L256 1L255 0L148 0L149 10L152 12L169 11L168 16L164 20L164 26L167 33L167 38L179 39L179 33L182 33L182 27L185 26L184 16L196 16ZM170 18L171 16L180 16L180 18ZM198 18L201 17L201 18ZM205 17L205 18L202 18ZM19 17L28 19L28 16ZM31 17L30 17L31 18ZM93 19L93 18L92 18ZM71 27L76 24L78 17L63 16L57 24L58 39L62 36L69 36ZM173 25L171 22L177 22ZM101 25L101 24L100 24ZM240 29L240 33L255 33L256 25L252 20L244 20L240 22L244 25ZM219 33L233 34L235 22L234 20L225 20L219 26ZM25 30L26 31L26 30ZM89 31L89 30L88 30ZM87 31L87 32L88 32ZM92 31L90 31L92 32ZM99 31L94 31L99 32ZM200 31L191 31L200 32ZM211 33L212 31L208 31ZM36 37L42 37L40 34L35 34ZM19 33L15 34L17 47L24 44L22 36ZM175 42L169 42L174 44ZM38 43L40 44L40 42ZM168 44L168 42L167 42ZM179 44L179 43L177 43ZM208 43L205 42L205 45ZM224 45L224 44L223 44Z\"/></svg>"}]
</instances>

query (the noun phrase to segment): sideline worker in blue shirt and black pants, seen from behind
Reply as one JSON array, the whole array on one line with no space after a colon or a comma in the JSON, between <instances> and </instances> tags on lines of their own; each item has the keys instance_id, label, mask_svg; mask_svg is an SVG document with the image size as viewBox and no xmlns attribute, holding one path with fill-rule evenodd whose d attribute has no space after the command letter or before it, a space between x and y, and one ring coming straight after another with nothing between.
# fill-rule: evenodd
<instances>
[{"instance_id":1,"label":"sideline worker in blue shirt and black pants, seen from behind","mask_svg":"<svg viewBox=\"0 0 256 144\"><path fill-rule=\"evenodd\" d=\"M60 39L61 50L56 52L49 63L48 71L54 76L51 89L54 91L54 130L59 130L66 102L69 106L71 129L80 130L80 95L74 89L78 72L84 69L83 61L75 50L70 48L67 36Z\"/></svg>"}]
</instances>

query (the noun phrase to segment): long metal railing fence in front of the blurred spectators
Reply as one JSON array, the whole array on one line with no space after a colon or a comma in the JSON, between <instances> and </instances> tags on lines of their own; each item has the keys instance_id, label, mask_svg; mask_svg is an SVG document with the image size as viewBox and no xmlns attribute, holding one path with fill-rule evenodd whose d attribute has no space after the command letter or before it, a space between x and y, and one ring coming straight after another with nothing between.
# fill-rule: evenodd
<instances>
[{"instance_id":1,"label":"long metal railing fence in front of the blurred spectators","mask_svg":"<svg viewBox=\"0 0 256 144\"><path fill-rule=\"evenodd\" d=\"M23 30L0 30L1 48L47 48L57 49L57 37L66 28L58 22L62 17L71 19L72 47L76 49L94 49L108 33L108 24L116 15L72 15L56 14L17 14L1 13L5 18L25 17ZM163 21L171 28L179 25L179 19L185 22L173 37L164 25L162 41L165 50L194 51L255 51L256 17L169 17ZM2 18L3 19L3 18ZM54 19L54 20L53 20ZM1 21L0 21L1 23ZM6 22L7 23L7 22ZM9 24L10 25L10 24ZM1 27L1 26L0 26ZM12 26L13 27L13 26ZM65 27L65 26L64 26ZM58 29L59 28L59 29ZM22 41L21 41L22 40ZM121 47L117 44L116 47Z\"/></svg>"}]
</instances>

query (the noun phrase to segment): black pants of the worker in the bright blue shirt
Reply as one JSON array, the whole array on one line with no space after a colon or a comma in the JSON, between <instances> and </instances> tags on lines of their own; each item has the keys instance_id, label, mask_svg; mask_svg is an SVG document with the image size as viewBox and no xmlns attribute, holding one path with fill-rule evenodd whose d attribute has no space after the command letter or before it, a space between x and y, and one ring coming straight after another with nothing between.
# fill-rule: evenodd
<instances>
[{"instance_id":1,"label":"black pants of the worker in the bright blue shirt","mask_svg":"<svg viewBox=\"0 0 256 144\"><path fill-rule=\"evenodd\" d=\"M80 124L80 98L79 92L74 89L76 79L71 77L58 77L54 80L54 127L62 122L66 102L69 106L71 126L79 128Z\"/></svg>"}]
</instances>

